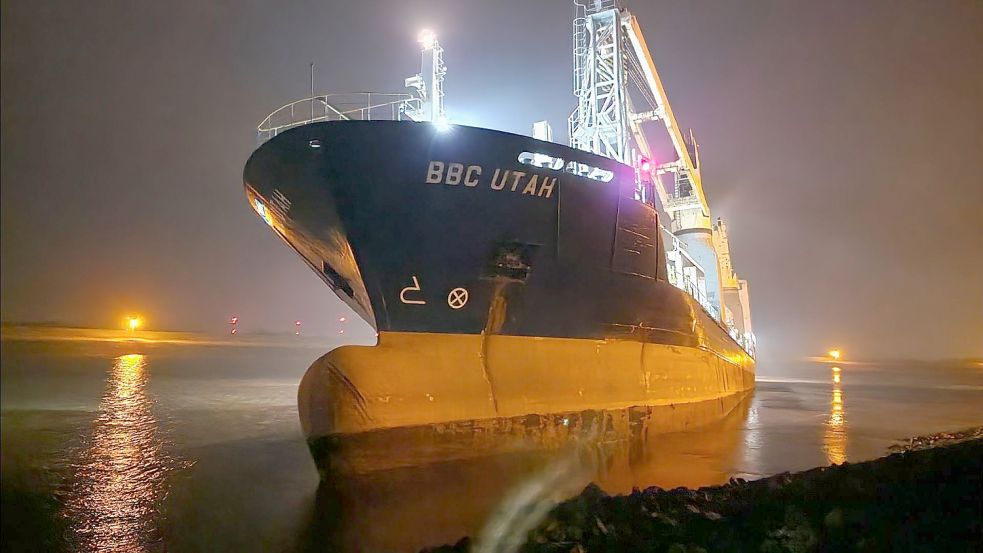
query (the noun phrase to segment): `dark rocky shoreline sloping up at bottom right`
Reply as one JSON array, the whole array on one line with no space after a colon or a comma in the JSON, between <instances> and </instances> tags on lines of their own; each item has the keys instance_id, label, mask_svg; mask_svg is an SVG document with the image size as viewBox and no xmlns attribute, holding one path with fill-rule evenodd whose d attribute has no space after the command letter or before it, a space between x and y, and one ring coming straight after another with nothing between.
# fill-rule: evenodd
<instances>
[{"instance_id":1,"label":"dark rocky shoreline sloping up at bottom right","mask_svg":"<svg viewBox=\"0 0 983 553\"><path fill-rule=\"evenodd\" d=\"M557 505L519 551L983 550L983 427L911 438L892 451L696 490L609 496L592 484ZM465 538L428 551L472 545Z\"/></svg>"}]
</instances>

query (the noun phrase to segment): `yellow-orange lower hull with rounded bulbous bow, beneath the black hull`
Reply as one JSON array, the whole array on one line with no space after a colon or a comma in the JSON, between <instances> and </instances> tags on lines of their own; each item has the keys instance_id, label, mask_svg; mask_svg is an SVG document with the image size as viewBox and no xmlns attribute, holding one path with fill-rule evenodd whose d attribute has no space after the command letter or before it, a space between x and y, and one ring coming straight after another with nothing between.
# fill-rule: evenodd
<instances>
[{"instance_id":1,"label":"yellow-orange lower hull with rounded bulbous bow, beneath the black hull","mask_svg":"<svg viewBox=\"0 0 983 553\"><path fill-rule=\"evenodd\" d=\"M308 369L308 439L530 414L696 403L754 387L753 364L630 340L381 333Z\"/></svg>"}]
</instances>

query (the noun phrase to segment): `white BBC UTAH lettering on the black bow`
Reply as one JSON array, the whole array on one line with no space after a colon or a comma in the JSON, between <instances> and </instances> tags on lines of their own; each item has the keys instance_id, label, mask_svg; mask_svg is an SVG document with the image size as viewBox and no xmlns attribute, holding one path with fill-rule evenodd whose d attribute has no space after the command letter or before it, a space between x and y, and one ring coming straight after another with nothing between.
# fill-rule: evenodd
<instances>
[{"instance_id":1,"label":"white BBC UTAH lettering on the black bow","mask_svg":"<svg viewBox=\"0 0 983 553\"><path fill-rule=\"evenodd\" d=\"M484 175L484 178L483 178ZM466 188L515 192L537 198L551 198L556 188L556 177L537 175L525 171L496 168L485 172L480 165L431 161L427 167L427 184L445 184Z\"/></svg>"}]
</instances>

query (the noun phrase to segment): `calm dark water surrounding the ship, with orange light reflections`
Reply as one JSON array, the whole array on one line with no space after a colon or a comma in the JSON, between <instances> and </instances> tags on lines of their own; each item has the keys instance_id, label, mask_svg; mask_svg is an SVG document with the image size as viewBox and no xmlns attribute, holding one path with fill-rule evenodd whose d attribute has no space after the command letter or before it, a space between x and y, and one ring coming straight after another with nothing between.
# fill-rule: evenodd
<instances>
[{"instance_id":1,"label":"calm dark water surrounding the ship, with orange light reflections","mask_svg":"<svg viewBox=\"0 0 983 553\"><path fill-rule=\"evenodd\" d=\"M368 437L319 485L296 389L327 349L3 341L4 540L16 524L86 551L412 551L521 535L590 481L718 484L983 424L979 366L759 367L732 405Z\"/></svg>"}]
</instances>

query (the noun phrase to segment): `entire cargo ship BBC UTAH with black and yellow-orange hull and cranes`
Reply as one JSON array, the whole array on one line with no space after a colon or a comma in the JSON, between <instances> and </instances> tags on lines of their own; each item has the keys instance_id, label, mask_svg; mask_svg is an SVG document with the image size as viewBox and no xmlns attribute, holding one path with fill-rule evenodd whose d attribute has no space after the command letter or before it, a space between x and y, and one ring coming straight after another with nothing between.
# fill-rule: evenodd
<instances>
[{"instance_id":1,"label":"entire cargo ship BBC UTAH with black and yellow-orange hull and cranes","mask_svg":"<svg viewBox=\"0 0 983 553\"><path fill-rule=\"evenodd\" d=\"M378 336L304 376L312 449L753 388L747 283L635 18L578 5L570 145L546 122L532 136L454 124L443 48L431 33L420 45L410 93L287 104L244 170L250 206ZM633 109L639 79L647 112ZM654 159L653 126L675 159Z\"/></svg>"}]
</instances>

